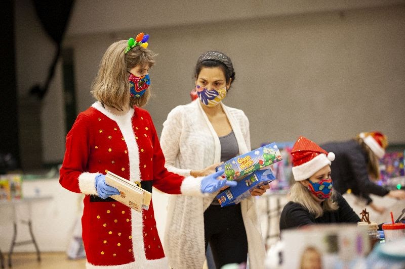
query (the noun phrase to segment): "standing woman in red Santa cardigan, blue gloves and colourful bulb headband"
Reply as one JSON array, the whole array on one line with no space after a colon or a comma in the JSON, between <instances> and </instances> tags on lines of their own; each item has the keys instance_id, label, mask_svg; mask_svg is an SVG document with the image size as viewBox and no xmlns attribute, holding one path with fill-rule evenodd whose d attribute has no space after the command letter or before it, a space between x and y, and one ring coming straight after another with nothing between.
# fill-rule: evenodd
<instances>
[{"instance_id":1,"label":"standing woman in red Santa cardigan, blue gloves and colourful bulb headband","mask_svg":"<svg viewBox=\"0 0 405 269\"><path fill-rule=\"evenodd\" d=\"M86 194L82 217L87 268L167 268L157 234L153 204L135 211L110 195L119 192L105 183L107 171L142 188L170 194L204 195L235 184L206 177L183 177L165 168L152 119L141 109L150 96L148 70L154 53L148 35L111 44L92 85L97 101L77 116L66 137L60 184Z\"/></svg>"}]
</instances>

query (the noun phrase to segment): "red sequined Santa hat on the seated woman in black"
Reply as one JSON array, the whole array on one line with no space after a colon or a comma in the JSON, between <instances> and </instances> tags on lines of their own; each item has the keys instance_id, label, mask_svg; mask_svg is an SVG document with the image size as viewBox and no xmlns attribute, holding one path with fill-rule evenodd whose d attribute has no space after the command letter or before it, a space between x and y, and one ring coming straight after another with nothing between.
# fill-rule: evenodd
<instances>
[{"instance_id":1,"label":"red sequined Santa hat on the seated woman in black","mask_svg":"<svg viewBox=\"0 0 405 269\"><path fill-rule=\"evenodd\" d=\"M310 178L322 167L331 165L335 159L333 152L326 152L325 149L316 143L300 136L291 150L293 156L293 175L296 181Z\"/></svg>"}]
</instances>

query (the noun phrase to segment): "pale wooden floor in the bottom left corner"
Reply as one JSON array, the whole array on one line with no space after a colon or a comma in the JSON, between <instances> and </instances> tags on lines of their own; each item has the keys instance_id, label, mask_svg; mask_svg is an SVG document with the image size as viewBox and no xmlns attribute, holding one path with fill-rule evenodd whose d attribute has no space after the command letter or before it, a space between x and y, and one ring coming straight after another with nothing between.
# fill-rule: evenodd
<instances>
[{"instance_id":1,"label":"pale wooden floor in the bottom left corner","mask_svg":"<svg viewBox=\"0 0 405 269\"><path fill-rule=\"evenodd\" d=\"M9 257L5 255L5 268L8 268ZM13 253L13 269L83 269L86 259L70 260L65 252L42 252L41 261L36 260L35 253Z\"/></svg>"}]
</instances>

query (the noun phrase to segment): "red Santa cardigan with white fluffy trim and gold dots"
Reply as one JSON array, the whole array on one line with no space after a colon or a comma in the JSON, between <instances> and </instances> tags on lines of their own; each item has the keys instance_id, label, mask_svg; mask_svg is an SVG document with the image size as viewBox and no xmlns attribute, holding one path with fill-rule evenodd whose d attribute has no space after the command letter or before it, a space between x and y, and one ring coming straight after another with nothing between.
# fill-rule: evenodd
<instances>
[{"instance_id":1,"label":"red Santa cardigan with white fluffy trim and gold dots","mask_svg":"<svg viewBox=\"0 0 405 269\"><path fill-rule=\"evenodd\" d=\"M111 171L133 182L153 183L170 194L200 193L200 180L184 180L164 165L146 110L134 107L126 115L116 116L96 102L77 116L66 137L59 182L70 191L88 194L82 217L88 267L167 267L152 202L141 214L111 198L102 200L95 189L95 176Z\"/></svg>"}]
</instances>

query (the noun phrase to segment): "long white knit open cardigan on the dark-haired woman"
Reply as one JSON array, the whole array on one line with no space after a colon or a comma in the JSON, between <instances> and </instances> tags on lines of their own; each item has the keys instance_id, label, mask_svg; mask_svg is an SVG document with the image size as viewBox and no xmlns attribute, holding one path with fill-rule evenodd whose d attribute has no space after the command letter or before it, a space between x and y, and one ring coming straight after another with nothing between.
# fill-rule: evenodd
<instances>
[{"instance_id":1,"label":"long white knit open cardigan on the dark-haired woman","mask_svg":"<svg viewBox=\"0 0 405 269\"><path fill-rule=\"evenodd\" d=\"M222 108L229 120L239 147L239 154L250 148L249 120L241 110ZM166 157L166 168L190 176L191 170L219 163L221 144L200 101L175 107L163 124L160 145ZM176 269L202 268L205 260L204 211L212 202L209 197L171 195L168 204L164 249L169 265ZM256 213L255 197L240 203L248 238L250 268L263 268L265 248Z\"/></svg>"}]
</instances>

